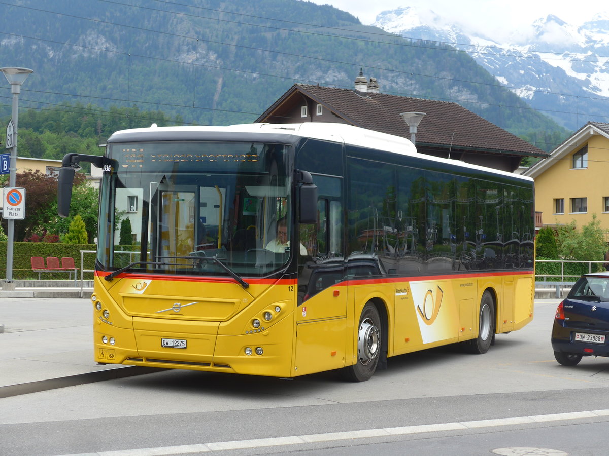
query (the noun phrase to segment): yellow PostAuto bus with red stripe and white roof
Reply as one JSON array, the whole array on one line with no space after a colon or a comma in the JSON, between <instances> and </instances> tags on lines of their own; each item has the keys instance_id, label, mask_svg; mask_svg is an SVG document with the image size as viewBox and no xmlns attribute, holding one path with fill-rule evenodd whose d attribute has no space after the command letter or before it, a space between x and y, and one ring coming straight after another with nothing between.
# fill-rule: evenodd
<instances>
[{"instance_id":1,"label":"yellow PostAuto bus with red stripe and white roof","mask_svg":"<svg viewBox=\"0 0 609 456\"><path fill-rule=\"evenodd\" d=\"M67 154L62 216L82 161L103 170L99 363L365 381L533 317L529 178L343 124L153 125Z\"/></svg>"}]
</instances>

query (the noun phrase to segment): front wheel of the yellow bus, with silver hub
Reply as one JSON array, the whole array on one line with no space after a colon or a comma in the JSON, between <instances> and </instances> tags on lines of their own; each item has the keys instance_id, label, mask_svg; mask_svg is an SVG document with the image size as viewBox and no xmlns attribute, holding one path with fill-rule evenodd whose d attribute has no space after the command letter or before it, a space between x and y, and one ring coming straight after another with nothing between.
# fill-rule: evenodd
<instances>
[{"instance_id":1,"label":"front wheel of the yellow bus, with silver hub","mask_svg":"<svg viewBox=\"0 0 609 456\"><path fill-rule=\"evenodd\" d=\"M357 329L357 362L340 370L342 378L352 382L364 382L375 373L381 358L382 326L376 306L368 302L359 317Z\"/></svg>"}]
</instances>

